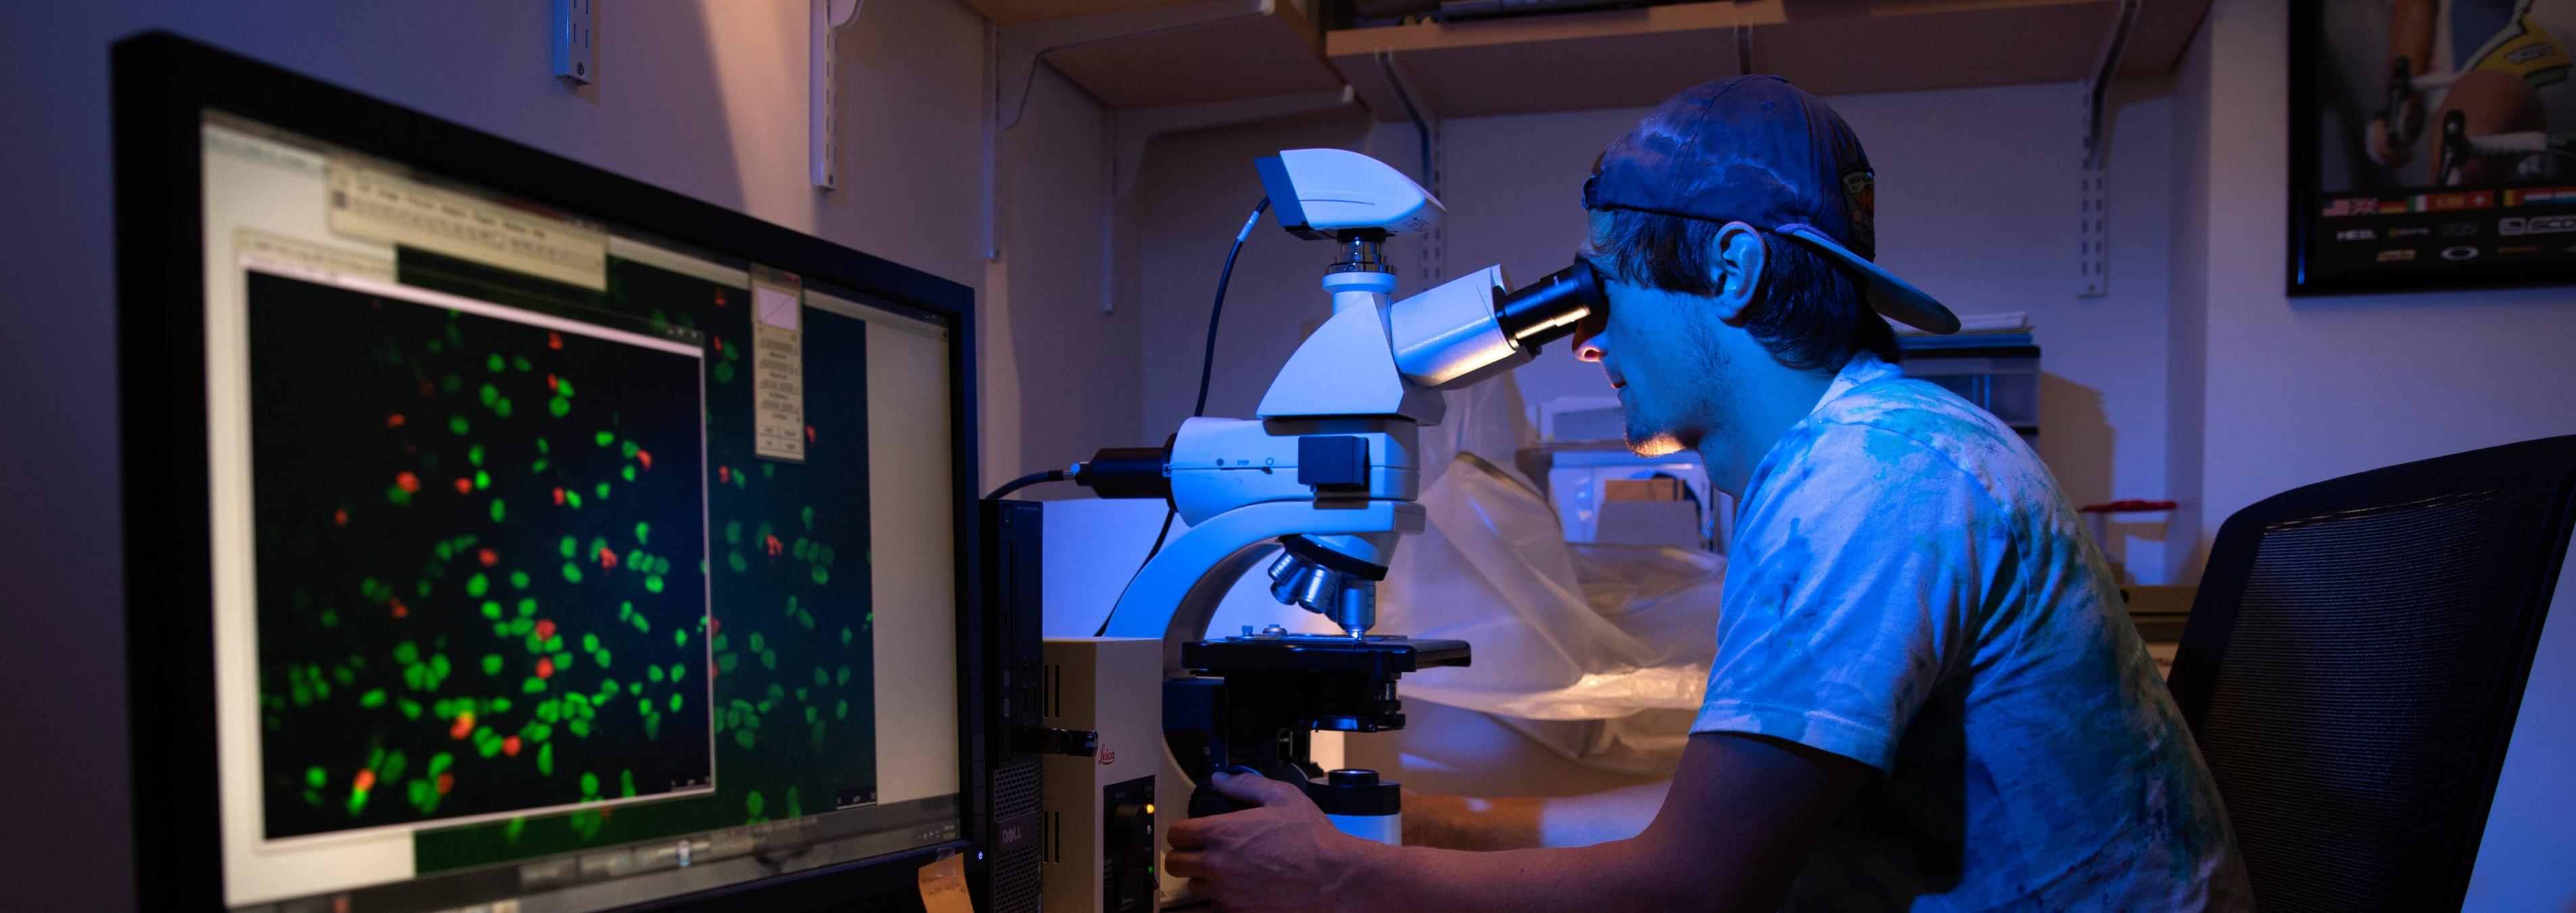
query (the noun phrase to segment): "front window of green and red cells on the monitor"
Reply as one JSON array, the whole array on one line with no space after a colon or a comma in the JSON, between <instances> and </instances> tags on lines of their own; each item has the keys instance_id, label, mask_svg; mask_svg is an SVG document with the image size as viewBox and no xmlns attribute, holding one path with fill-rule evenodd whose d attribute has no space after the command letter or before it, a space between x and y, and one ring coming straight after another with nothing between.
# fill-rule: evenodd
<instances>
[{"instance_id":1,"label":"front window of green and red cells on the monitor","mask_svg":"<svg viewBox=\"0 0 2576 913\"><path fill-rule=\"evenodd\" d=\"M701 357L245 291L265 836L706 792Z\"/></svg>"}]
</instances>

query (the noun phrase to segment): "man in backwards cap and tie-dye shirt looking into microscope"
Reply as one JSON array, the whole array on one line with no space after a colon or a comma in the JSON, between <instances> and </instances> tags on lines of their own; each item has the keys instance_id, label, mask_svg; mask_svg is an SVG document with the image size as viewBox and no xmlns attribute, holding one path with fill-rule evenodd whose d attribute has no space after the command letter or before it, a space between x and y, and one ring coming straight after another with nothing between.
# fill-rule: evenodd
<instances>
[{"instance_id":1,"label":"man in backwards cap and tie-dye shirt looking into microscope","mask_svg":"<svg viewBox=\"0 0 2576 913\"><path fill-rule=\"evenodd\" d=\"M1718 656L1654 820L1571 849L1342 836L1293 784L1170 826L1224 910L2246 908L2218 795L2099 550L1994 417L1906 381L1850 126L1775 77L1674 95L1584 185L1577 334L1638 453L1736 496ZM1875 309L1875 314L1873 314Z\"/></svg>"}]
</instances>

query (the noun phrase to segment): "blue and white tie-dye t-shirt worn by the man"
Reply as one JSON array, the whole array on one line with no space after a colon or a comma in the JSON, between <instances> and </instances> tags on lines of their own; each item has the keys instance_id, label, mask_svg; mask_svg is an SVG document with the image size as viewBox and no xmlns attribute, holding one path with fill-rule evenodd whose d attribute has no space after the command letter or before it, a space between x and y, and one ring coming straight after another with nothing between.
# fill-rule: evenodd
<instances>
[{"instance_id":1,"label":"blue and white tie-dye t-shirt worn by the man","mask_svg":"<svg viewBox=\"0 0 2576 913\"><path fill-rule=\"evenodd\" d=\"M2200 751L2022 440L1862 352L1754 468L1695 733L1870 777L1788 910L2249 908Z\"/></svg>"}]
</instances>

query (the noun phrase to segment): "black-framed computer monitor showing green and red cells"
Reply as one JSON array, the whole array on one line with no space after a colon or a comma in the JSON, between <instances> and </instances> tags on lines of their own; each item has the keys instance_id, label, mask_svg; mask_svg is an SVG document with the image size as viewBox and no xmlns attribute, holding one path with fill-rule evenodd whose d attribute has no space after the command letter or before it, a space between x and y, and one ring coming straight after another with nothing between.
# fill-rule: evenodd
<instances>
[{"instance_id":1,"label":"black-framed computer monitor showing green and red cells","mask_svg":"<svg viewBox=\"0 0 2576 913\"><path fill-rule=\"evenodd\" d=\"M781 905L974 851L963 285L113 57L147 908Z\"/></svg>"}]
</instances>

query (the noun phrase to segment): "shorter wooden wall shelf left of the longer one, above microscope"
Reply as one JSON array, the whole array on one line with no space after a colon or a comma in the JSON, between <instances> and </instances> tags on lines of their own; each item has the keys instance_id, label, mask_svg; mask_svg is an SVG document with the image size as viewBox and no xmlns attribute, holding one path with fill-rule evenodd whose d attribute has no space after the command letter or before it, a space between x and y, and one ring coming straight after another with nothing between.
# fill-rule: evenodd
<instances>
[{"instance_id":1,"label":"shorter wooden wall shelf left of the longer one, above microscope","mask_svg":"<svg viewBox=\"0 0 2576 913\"><path fill-rule=\"evenodd\" d=\"M1015 57L1038 54L1113 111L1342 87L1342 75L1324 62L1321 28L1301 0L966 0L966 5L999 26L1005 75L1023 64Z\"/></svg>"}]
</instances>

